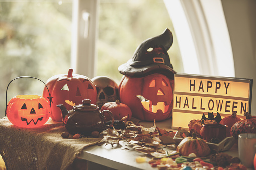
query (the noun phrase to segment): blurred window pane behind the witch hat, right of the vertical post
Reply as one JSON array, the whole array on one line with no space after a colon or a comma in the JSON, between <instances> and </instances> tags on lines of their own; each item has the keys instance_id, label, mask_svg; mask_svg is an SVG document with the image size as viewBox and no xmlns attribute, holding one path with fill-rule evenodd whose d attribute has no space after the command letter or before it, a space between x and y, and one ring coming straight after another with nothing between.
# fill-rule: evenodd
<instances>
[{"instance_id":1,"label":"blurred window pane behind the witch hat, right of the vertical post","mask_svg":"<svg viewBox=\"0 0 256 170\"><path fill-rule=\"evenodd\" d=\"M174 37L168 50L174 70L182 72L182 61L172 21L164 2L154 0L101 0L97 75L120 82L118 67L132 58L136 48L146 39L169 28Z\"/></svg>"}]
</instances>

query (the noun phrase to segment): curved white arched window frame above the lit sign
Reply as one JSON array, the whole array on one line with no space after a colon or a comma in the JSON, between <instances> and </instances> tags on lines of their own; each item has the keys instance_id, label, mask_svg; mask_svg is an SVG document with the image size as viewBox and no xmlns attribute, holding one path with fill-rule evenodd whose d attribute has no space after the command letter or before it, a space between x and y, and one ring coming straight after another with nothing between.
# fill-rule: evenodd
<instances>
[{"instance_id":1,"label":"curved white arched window frame above the lit sign","mask_svg":"<svg viewBox=\"0 0 256 170\"><path fill-rule=\"evenodd\" d=\"M164 0L184 72L234 77L234 60L220 0Z\"/></svg>"}]
</instances>

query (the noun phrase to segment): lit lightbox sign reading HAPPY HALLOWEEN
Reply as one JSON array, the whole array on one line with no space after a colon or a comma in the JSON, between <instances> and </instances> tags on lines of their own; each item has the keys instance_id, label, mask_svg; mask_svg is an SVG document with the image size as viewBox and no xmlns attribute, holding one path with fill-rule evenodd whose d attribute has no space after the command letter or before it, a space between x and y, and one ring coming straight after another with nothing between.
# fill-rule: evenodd
<instances>
[{"instance_id":1,"label":"lit lightbox sign reading HAPPY HALLOWEEN","mask_svg":"<svg viewBox=\"0 0 256 170\"><path fill-rule=\"evenodd\" d=\"M251 110L252 79L175 74L172 129L188 128L190 120L208 112L222 119L232 115L245 118Z\"/></svg>"}]
</instances>

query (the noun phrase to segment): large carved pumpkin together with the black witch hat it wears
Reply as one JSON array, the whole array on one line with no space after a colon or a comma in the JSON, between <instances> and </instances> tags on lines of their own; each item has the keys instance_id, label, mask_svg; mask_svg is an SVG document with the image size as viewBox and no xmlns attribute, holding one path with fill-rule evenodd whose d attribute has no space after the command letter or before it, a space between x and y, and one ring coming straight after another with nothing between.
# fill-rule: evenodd
<instances>
[{"instance_id":1,"label":"large carved pumpkin together with the black witch hat it wears","mask_svg":"<svg viewBox=\"0 0 256 170\"><path fill-rule=\"evenodd\" d=\"M140 120L160 121L172 116L174 74L167 50L173 43L169 29L149 38L127 63L119 66L120 101Z\"/></svg>"}]
</instances>

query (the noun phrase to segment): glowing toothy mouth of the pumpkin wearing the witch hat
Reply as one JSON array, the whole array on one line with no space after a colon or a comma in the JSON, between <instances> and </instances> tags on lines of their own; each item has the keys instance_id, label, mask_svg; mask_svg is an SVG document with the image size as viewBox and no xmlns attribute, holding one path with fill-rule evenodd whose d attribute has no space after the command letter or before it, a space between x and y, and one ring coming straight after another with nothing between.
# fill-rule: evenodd
<instances>
[{"instance_id":1,"label":"glowing toothy mouth of the pumpkin wearing the witch hat","mask_svg":"<svg viewBox=\"0 0 256 170\"><path fill-rule=\"evenodd\" d=\"M163 113L166 113L170 106L170 105L165 105L165 102L157 102L156 105L153 105L152 101L147 100L143 96L138 95L136 97L138 97L140 99L140 102L141 102L143 108L152 113L157 113L158 110L161 110Z\"/></svg>"}]
</instances>

